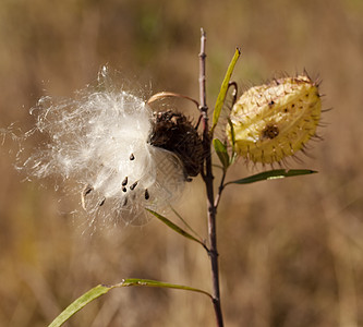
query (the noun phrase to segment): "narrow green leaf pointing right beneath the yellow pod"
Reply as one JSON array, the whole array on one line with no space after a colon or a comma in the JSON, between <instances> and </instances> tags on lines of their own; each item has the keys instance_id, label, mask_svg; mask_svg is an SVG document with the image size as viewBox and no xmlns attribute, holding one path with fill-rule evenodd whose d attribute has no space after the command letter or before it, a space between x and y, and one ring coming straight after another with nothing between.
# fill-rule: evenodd
<instances>
[{"instance_id":1,"label":"narrow green leaf pointing right beneath the yellow pod","mask_svg":"<svg viewBox=\"0 0 363 327\"><path fill-rule=\"evenodd\" d=\"M311 173L316 173L316 172L317 171L310 170L310 169L291 169L291 170L276 169L276 170L269 170L269 171L264 171L264 172L261 172L257 174L253 174L253 175L250 175L250 177L241 179L241 180L231 181L231 182L226 183L226 185L228 185L228 184L250 184L250 183L255 183L258 181L285 179L288 177L311 174Z\"/></svg>"}]
</instances>

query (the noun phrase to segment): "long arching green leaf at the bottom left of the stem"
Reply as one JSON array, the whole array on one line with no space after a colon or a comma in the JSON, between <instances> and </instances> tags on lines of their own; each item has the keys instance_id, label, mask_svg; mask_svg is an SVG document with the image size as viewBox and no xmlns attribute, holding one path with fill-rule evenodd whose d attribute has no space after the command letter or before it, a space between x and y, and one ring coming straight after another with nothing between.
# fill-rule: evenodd
<instances>
[{"instance_id":1,"label":"long arching green leaf at the bottom left of the stem","mask_svg":"<svg viewBox=\"0 0 363 327\"><path fill-rule=\"evenodd\" d=\"M122 288L122 287L154 287L154 288L168 288L168 289L177 289L177 290L184 290L191 292L197 292L205 294L213 299L211 294L201 289L191 288L182 284L174 284L168 283L157 280L150 279L140 279L140 278L129 278L123 279L120 283L113 286L97 286L90 289L88 292L81 295L77 300L71 303L48 327L59 327L62 326L70 317L72 317L75 313L77 313L81 308L86 306L89 302L96 300L97 298L106 294L108 291L114 288Z\"/></svg>"}]
</instances>

